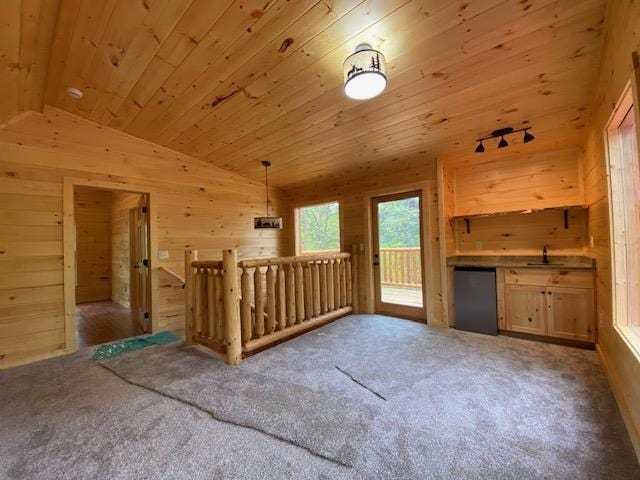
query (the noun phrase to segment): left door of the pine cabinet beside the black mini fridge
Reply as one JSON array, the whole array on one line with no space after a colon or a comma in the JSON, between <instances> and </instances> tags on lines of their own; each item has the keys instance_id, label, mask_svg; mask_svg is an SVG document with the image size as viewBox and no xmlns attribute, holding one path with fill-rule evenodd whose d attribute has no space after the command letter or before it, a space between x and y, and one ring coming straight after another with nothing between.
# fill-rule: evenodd
<instances>
[{"instance_id":1,"label":"left door of the pine cabinet beside the black mini fridge","mask_svg":"<svg viewBox=\"0 0 640 480\"><path fill-rule=\"evenodd\" d=\"M546 335L546 292L543 287L505 285L507 330Z\"/></svg>"}]
</instances>

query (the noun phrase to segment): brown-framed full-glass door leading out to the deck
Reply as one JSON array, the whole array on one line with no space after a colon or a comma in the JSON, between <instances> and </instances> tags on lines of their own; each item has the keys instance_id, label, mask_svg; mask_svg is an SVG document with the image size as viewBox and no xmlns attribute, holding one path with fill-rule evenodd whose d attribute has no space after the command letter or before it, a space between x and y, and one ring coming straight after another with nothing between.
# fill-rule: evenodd
<instances>
[{"instance_id":1,"label":"brown-framed full-glass door leading out to the deck","mask_svg":"<svg viewBox=\"0 0 640 480\"><path fill-rule=\"evenodd\" d=\"M422 192L372 199L376 313L426 321Z\"/></svg>"}]
</instances>

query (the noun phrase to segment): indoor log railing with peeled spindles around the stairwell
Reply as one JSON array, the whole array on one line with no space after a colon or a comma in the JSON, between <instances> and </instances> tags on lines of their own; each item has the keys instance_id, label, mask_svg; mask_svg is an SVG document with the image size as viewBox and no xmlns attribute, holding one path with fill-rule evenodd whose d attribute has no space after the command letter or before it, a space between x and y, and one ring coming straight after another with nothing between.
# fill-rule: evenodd
<instances>
[{"instance_id":1,"label":"indoor log railing with peeled spindles around the stairwell","mask_svg":"<svg viewBox=\"0 0 640 480\"><path fill-rule=\"evenodd\" d=\"M357 308L350 253L236 258L235 250L222 261L185 254L187 343L224 353L229 364Z\"/></svg>"}]
</instances>

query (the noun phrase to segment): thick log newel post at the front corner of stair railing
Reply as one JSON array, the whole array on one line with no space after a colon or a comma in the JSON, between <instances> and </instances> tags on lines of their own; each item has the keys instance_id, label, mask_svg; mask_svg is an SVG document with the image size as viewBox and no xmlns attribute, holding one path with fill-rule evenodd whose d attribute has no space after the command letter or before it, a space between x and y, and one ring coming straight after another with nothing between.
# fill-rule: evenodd
<instances>
[{"instance_id":1,"label":"thick log newel post at the front corner of stair railing","mask_svg":"<svg viewBox=\"0 0 640 480\"><path fill-rule=\"evenodd\" d=\"M238 302L238 252L235 249L222 251L222 268L227 363L238 365L242 361L242 341Z\"/></svg>"}]
</instances>

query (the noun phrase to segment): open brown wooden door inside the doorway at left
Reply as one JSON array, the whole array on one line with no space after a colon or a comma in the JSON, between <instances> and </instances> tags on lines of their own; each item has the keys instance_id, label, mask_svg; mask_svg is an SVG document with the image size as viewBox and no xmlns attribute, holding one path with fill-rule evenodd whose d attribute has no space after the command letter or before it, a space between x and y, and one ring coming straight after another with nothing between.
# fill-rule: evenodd
<instances>
[{"instance_id":1,"label":"open brown wooden door inside the doorway at left","mask_svg":"<svg viewBox=\"0 0 640 480\"><path fill-rule=\"evenodd\" d=\"M149 211L147 196L129 211L131 309L144 332L151 331L151 269L149 268Z\"/></svg>"}]
</instances>

